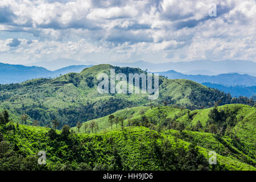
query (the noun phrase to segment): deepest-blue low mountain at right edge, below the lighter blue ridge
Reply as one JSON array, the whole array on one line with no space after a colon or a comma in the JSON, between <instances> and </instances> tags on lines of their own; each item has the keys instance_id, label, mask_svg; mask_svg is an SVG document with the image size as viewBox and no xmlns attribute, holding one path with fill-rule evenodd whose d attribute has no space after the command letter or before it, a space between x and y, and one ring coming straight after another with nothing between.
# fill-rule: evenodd
<instances>
[{"instance_id":1,"label":"deepest-blue low mountain at right edge, below the lighter blue ridge","mask_svg":"<svg viewBox=\"0 0 256 182\"><path fill-rule=\"evenodd\" d=\"M256 86L224 86L220 84L212 84L212 83L202 83L205 86L208 86L209 88L215 88L218 90L221 90L225 93L230 93L232 97L239 97L239 96L245 96L245 97L251 97L256 99Z\"/></svg>"}]
</instances>

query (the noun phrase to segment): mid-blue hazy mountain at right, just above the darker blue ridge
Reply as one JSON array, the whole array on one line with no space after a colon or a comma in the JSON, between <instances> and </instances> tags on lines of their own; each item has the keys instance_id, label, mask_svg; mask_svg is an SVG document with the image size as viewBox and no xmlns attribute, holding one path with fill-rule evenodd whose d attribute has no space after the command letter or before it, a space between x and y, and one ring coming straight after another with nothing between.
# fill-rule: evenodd
<instances>
[{"instance_id":1,"label":"mid-blue hazy mountain at right, just above the darker blue ridge","mask_svg":"<svg viewBox=\"0 0 256 182\"><path fill-rule=\"evenodd\" d=\"M235 86L235 85L255 86L256 85L256 77L245 75L245 74L241 75L238 73L226 73L226 74L220 74L216 76L185 75L183 73L179 73L174 70L170 70L167 72L156 72L156 73L159 73L159 75L167 76L170 79L188 79L188 80L196 81L199 83L211 82L214 84L221 84L224 86Z\"/></svg>"}]
</instances>

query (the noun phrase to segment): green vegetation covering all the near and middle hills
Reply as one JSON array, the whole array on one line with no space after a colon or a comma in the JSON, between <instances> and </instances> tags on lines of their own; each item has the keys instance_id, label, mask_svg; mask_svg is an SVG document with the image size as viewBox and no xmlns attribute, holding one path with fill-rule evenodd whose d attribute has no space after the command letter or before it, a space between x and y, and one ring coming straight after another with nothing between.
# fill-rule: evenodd
<instances>
[{"instance_id":1,"label":"green vegetation covering all the near and middle hills","mask_svg":"<svg viewBox=\"0 0 256 182\"><path fill-rule=\"evenodd\" d=\"M256 170L253 100L164 77L152 102L99 94L96 76L110 68L143 72L105 64L0 85L0 170Z\"/></svg>"}]
</instances>

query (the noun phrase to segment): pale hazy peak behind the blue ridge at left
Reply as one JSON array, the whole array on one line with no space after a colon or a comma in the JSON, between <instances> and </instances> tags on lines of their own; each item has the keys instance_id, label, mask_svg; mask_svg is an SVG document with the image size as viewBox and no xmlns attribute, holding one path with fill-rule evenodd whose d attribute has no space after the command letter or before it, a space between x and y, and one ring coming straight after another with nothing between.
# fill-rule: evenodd
<instances>
[{"instance_id":1,"label":"pale hazy peak behind the blue ridge at left","mask_svg":"<svg viewBox=\"0 0 256 182\"><path fill-rule=\"evenodd\" d=\"M36 66L36 67L44 67L48 70L55 71L56 69L61 69L64 67L69 67L71 65L85 65L88 63L84 63L81 61L76 61L73 59L59 58L52 61L39 61L36 63L26 64L27 66Z\"/></svg>"}]
</instances>

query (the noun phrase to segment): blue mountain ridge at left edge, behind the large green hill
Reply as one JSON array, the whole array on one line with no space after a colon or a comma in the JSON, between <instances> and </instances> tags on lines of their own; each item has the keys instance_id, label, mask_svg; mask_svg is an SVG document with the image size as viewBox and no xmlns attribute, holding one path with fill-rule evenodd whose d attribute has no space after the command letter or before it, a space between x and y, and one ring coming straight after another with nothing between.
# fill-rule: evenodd
<instances>
[{"instance_id":1,"label":"blue mountain ridge at left edge, behind the large green hill","mask_svg":"<svg viewBox=\"0 0 256 182\"><path fill-rule=\"evenodd\" d=\"M73 65L56 71L49 71L42 67L0 63L0 84L17 83L33 78L57 77L70 72L80 73L82 69L88 67L92 67L92 65Z\"/></svg>"}]
</instances>

